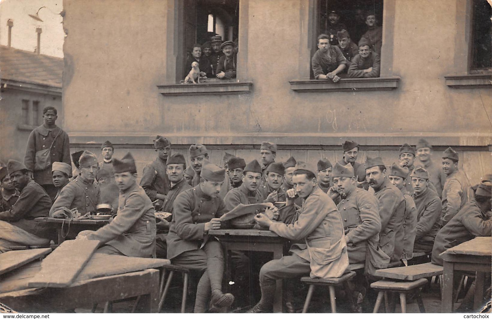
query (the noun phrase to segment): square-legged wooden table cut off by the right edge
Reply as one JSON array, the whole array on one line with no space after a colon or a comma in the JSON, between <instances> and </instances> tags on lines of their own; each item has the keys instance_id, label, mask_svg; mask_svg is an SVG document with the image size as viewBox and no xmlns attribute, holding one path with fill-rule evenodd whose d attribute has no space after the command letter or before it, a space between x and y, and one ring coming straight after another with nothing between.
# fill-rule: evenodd
<instances>
[{"instance_id":1,"label":"square-legged wooden table cut off by the right edge","mask_svg":"<svg viewBox=\"0 0 492 319\"><path fill-rule=\"evenodd\" d=\"M473 307L481 306L484 274L491 272L492 266L492 237L476 237L446 250L441 256L444 260L442 313L453 312L453 277L455 270L476 271Z\"/></svg>"}]
</instances>

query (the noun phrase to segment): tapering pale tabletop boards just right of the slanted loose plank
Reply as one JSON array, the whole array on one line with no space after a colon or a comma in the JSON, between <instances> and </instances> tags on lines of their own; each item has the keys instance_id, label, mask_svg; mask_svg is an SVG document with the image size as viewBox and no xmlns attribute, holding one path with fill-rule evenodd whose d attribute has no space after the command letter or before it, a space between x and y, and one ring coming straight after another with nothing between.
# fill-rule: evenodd
<instances>
[{"instance_id":1,"label":"tapering pale tabletop boards just right of the slanted loose plank","mask_svg":"<svg viewBox=\"0 0 492 319\"><path fill-rule=\"evenodd\" d=\"M150 268L159 268L170 264L171 261L169 259L94 254L77 276L75 282Z\"/></svg>"}]
</instances>

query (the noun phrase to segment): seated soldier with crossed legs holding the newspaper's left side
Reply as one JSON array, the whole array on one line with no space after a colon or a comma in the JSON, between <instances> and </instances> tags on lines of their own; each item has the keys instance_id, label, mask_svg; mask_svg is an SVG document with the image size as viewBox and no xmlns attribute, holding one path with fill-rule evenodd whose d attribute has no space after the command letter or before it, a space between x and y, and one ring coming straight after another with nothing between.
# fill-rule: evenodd
<instances>
[{"instance_id":1,"label":"seated soldier with crossed legs holding the newspaper's left side","mask_svg":"<svg viewBox=\"0 0 492 319\"><path fill-rule=\"evenodd\" d=\"M173 264L203 271L196 289L195 313L204 313L209 299L216 308L229 307L234 301L232 294L222 293L222 247L208 236L210 229L220 228L219 218L227 212L218 196L225 169L205 160L200 173L200 184L176 197L167 236L167 258Z\"/></svg>"}]
</instances>

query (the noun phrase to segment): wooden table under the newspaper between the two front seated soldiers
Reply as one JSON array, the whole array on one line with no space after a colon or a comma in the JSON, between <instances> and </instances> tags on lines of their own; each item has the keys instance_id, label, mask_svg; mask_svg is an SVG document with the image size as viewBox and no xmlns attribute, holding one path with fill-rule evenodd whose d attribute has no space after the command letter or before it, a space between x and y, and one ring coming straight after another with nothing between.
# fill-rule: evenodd
<instances>
[{"instance_id":1,"label":"wooden table under the newspaper between the two front seated soldiers","mask_svg":"<svg viewBox=\"0 0 492 319\"><path fill-rule=\"evenodd\" d=\"M259 229L212 229L209 235L217 237L225 250L249 252L272 252L274 259L283 255L285 238L270 230ZM277 280L274 299L274 312L282 312L282 280Z\"/></svg>"}]
</instances>

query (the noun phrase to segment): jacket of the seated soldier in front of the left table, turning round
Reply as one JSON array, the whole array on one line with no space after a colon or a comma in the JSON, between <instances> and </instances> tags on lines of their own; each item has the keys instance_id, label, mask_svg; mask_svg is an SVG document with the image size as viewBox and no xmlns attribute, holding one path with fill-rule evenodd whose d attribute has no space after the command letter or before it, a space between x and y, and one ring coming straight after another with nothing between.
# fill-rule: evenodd
<instances>
[{"instance_id":1,"label":"jacket of the seated soldier in front of the left table, turning round","mask_svg":"<svg viewBox=\"0 0 492 319\"><path fill-rule=\"evenodd\" d=\"M151 200L136 183L120 192L118 213L111 223L89 234L130 257L151 257L155 246L155 214Z\"/></svg>"}]
</instances>

